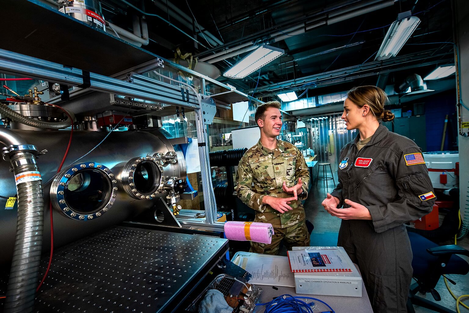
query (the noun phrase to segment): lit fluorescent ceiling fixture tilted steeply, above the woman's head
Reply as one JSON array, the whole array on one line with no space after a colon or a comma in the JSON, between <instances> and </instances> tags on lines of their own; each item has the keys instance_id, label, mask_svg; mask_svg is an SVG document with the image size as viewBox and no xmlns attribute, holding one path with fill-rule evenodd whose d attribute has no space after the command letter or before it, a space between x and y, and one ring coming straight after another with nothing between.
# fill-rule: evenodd
<instances>
[{"instance_id":1,"label":"lit fluorescent ceiling fixture tilted steeply, above the woman's head","mask_svg":"<svg viewBox=\"0 0 469 313\"><path fill-rule=\"evenodd\" d=\"M397 15L397 21L393 22L387 30L375 60L386 60L399 53L420 23L418 17L410 15L410 11Z\"/></svg>"}]
</instances>

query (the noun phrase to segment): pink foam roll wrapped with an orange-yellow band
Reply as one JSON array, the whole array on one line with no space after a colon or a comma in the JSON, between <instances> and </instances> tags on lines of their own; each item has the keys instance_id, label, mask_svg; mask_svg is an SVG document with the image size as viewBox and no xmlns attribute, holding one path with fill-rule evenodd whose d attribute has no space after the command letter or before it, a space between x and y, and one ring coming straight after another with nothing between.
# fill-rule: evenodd
<instances>
[{"instance_id":1,"label":"pink foam roll wrapped with an orange-yellow band","mask_svg":"<svg viewBox=\"0 0 469 313\"><path fill-rule=\"evenodd\" d=\"M229 240L254 241L263 244L272 242L273 228L270 223L227 221L225 236Z\"/></svg>"}]
</instances>

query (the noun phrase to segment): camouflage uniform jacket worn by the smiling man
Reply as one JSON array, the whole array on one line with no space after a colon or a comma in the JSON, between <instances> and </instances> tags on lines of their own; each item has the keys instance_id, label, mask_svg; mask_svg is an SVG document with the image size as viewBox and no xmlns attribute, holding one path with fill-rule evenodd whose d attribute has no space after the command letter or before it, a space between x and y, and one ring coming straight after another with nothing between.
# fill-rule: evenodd
<instances>
[{"instance_id":1,"label":"camouflage uniform jacket worn by the smiling man","mask_svg":"<svg viewBox=\"0 0 469 313\"><path fill-rule=\"evenodd\" d=\"M281 214L271 206L263 204L265 195L280 198L292 197L282 189L285 182L292 187L301 177L303 193L298 200L292 201L289 206L292 211ZM286 141L277 140L277 148L269 150L261 141L251 147L239 162L236 172L236 193L247 206L256 211L254 221L271 223L273 227L285 228L303 221L304 209L301 200L308 196L310 172L304 161L303 154L295 145Z\"/></svg>"}]
</instances>

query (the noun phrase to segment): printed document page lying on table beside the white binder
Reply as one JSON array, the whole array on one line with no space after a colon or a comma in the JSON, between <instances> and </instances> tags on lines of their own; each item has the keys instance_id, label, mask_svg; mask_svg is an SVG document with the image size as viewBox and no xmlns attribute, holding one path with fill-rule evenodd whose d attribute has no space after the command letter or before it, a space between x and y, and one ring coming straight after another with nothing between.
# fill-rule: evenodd
<instances>
[{"instance_id":1,"label":"printed document page lying on table beside the white binder","mask_svg":"<svg viewBox=\"0 0 469 313\"><path fill-rule=\"evenodd\" d=\"M290 271L287 257L238 252L233 263L252 275L249 283L295 287L295 277Z\"/></svg>"}]
</instances>

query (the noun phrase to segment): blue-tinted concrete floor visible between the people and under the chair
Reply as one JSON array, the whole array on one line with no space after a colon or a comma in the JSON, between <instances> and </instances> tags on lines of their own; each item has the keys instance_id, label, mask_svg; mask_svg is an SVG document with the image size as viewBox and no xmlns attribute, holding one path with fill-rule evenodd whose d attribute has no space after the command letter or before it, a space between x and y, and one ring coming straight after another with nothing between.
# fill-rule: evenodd
<instances>
[{"instance_id":1,"label":"blue-tinted concrete floor visible between the people and under the chair","mask_svg":"<svg viewBox=\"0 0 469 313\"><path fill-rule=\"evenodd\" d=\"M334 174L335 183L337 183L337 175ZM305 201L306 218L314 224L314 230L311 233L311 245L320 246L335 246L337 245L337 237L340 228L340 219L331 216L325 212L323 206L321 206L322 200L326 197L327 192L334 189L332 180L323 182L319 181L316 187L316 182L313 183L308 199ZM448 242L447 244L454 244ZM458 245L463 246L469 250L469 238L466 236L464 239L458 242ZM468 258L466 258L468 260ZM469 261L469 260L468 260ZM456 285L449 283L451 290L454 295L460 296L463 294L469 294L469 274L468 275L447 275L448 278L454 280ZM413 281L415 282L415 281ZM441 296L441 301L437 302L447 308L451 308L456 312L456 300L451 296L449 291L446 289L444 279L441 278L438 282L436 290ZM426 294L426 298L433 300L431 294ZM435 301L436 302L436 301ZM468 298L465 298L465 304L469 306ZM426 308L416 306L416 313L427 313L434 312ZM469 310L460 305L461 313L469 313Z\"/></svg>"}]
</instances>

